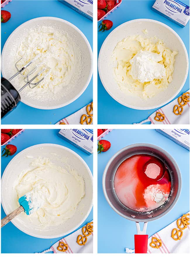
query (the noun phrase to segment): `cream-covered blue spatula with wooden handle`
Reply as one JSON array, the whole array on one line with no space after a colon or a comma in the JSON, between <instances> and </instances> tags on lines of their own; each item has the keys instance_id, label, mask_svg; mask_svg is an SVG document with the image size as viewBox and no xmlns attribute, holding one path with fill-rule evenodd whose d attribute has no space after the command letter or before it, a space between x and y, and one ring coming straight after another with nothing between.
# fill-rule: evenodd
<instances>
[{"instance_id":1,"label":"cream-covered blue spatula with wooden handle","mask_svg":"<svg viewBox=\"0 0 190 257\"><path fill-rule=\"evenodd\" d=\"M24 196L21 196L18 199L18 202L20 204L20 207L18 207L16 210L14 210L12 213L7 215L1 220L1 227L6 225L10 220L12 220L14 217L16 217L19 213L25 212L27 215L30 215L37 211L39 208L42 207L43 201L40 203L36 203L35 200L36 193L34 191L30 191L26 193Z\"/></svg>"}]
</instances>

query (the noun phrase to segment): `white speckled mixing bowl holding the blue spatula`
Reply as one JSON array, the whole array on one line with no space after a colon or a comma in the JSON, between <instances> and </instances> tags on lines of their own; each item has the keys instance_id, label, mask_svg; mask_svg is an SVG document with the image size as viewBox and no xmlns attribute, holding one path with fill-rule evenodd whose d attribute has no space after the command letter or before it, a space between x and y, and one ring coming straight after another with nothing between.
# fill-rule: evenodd
<instances>
[{"instance_id":1,"label":"white speckled mixing bowl holding the blue spatula","mask_svg":"<svg viewBox=\"0 0 190 257\"><path fill-rule=\"evenodd\" d=\"M77 229L89 215L93 203L93 178L86 162L74 151L62 145L56 144L39 144L33 145L18 153L7 165L1 179L1 202L3 209L8 215L15 210L17 205L17 194L13 188L15 179L20 172L29 169L31 158L29 157L47 157L57 166L64 167L65 162L72 169L77 170L85 181L85 196L77 206L76 213L63 225L46 227L41 230L37 229L33 223L28 221L27 215L21 213L12 220L12 223L21 231L33 237L39 238L56 238L64 236Z\"/></svg>"}]
</instances>

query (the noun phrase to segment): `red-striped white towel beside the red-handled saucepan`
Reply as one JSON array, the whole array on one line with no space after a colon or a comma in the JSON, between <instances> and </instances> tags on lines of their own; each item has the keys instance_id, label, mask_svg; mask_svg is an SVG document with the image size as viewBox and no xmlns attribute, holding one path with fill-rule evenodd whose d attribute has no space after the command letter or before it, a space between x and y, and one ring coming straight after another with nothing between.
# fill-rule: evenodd
<instances>
[{"instance_id":1,"label":"red-striped white towel beside the red-handled saucepan","mask_svg":"<svg viewBox=\"0 0 190 257\"><path fill-rule=\"evenodd\" d=\"M189 226L182 230L183 235L180 240L174 240L171 237L172 229L174 228L178 229L177 220L149 237L147 253L189 253ZM150 246L152 237L156 237L162 241L162 246L160 248L157 249ZM125 248L125 252L132 253L134 250Z\"/></svg>"}]
</instances>

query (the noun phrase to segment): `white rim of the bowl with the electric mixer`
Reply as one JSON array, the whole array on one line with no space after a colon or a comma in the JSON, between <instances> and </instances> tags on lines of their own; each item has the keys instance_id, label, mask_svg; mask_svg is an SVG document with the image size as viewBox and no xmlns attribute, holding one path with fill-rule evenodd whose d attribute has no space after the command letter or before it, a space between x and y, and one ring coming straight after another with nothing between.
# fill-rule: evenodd
<instances>
[{"instance_id":1,"label":"white rim of the bowl with the electric mixer","mask_svg":"<svg viewBox=\"0 0 190 257\"><path fill-rule=\"evenodd\" d=\"M51 16L43 16L43 17L37 17L37 18L34 18L34 19L30 19L30 20L27 20L25 21L24 23L20 24L17 28L15 28L15 30L13 30L13 32L11 33L11 35L9 35L8 39L6 40L5 44L4 44L4 47L3 47L3 50L2 50L2 53L1 53L1 56L3 56L4 54L4 51L5 51L5 47L6 47L6 43L11 39L12 37L12 34L13 33L16 33L16 30L18 30L18 28L22 28L25 26L26 23L32 23L34 20L43 20L43 19L49 19L49 20L58 20L60 22L63 22L63 23L66 23L68 25L70 25L72 28L74 28L77 32L79 32L79 34L82 36L82 38L84 39L85 43L87 44L87 47L89 49L89 54L90 54L90 58L91 58L91 68L90 68L90 73L89 73L89 77L88 77L88 80L86 82L86 84L84 85L84 87L82 88L82 90L75 96L72 98L72 100L70 101L67 101L65 102L64 104L59 104L59 105L54 105L54 106L51 106L51 107L42 107L42 106L39 106L37 104L28 104L27 101L23 101L21 99L21 102L23 102L24 104L30 106L30 107L33 107L33 108L36 108L36 109L42 109L42 110L51 110L51 109L58 109L58 108L61 108L61 107L64 107L64 106L67 106L68 104L74 102L75 100L77 100L83 93L84 91L86 90L87 86L89 85L90 83L90 80L91 80L91 77L92 77L92 72L93 72L93 53L92 53L92 49L91 49L91 46L90 46L90 43L89 41L87 40L86 36L83 34L83 32L77 28L75 25L73 25L71 22L67 21L67 20L63 20L61 18L57 18L57 17L51 17ZM2 75L3 75L3 72L2 72Z\"/></svg>"}]
</instances>

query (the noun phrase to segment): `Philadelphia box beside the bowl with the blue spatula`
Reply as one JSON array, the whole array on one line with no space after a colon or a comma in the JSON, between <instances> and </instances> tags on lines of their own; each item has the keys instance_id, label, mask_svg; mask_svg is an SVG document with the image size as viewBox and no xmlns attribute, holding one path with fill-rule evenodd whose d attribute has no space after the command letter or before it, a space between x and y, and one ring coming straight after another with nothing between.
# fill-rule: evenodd
<instances>
[{"instance_id":1,"label":"Philadelphia box beside the bowl with the blue spatula","mask_svg":"<svg viewBox=\"0 0 190 257\"><path fill-rule=\"evenodd\" d=\"M61 129L58 134L87 154L93 153L93 130L91 129Z\"/></svg>"}]
</instances>

